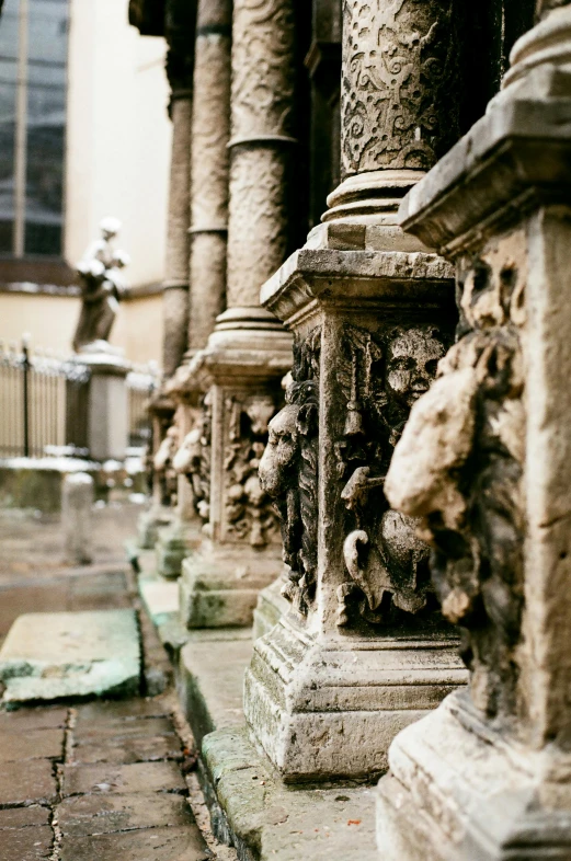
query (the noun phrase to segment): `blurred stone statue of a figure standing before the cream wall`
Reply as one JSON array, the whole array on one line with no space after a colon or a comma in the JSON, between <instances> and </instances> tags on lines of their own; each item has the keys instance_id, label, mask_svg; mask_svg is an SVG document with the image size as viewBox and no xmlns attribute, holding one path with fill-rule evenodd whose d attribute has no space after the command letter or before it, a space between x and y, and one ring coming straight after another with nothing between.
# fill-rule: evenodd
<instances>
[{"instance_id":1,"label":"blurred stone statue of a figure standing before the cream wall","mask_svg":"<svg viewBox=\"0 0 571 861\"><path fill-rule=\"evenodd\" d=\"M77 266L82 280L82 307L73 337L77 353L89 344L109 340L126 288L121 269L128 265L129 256L111 244L121 230L121 221L104 218L100 228L102 238L91 243Z\"/></svg>"}]
</instances>

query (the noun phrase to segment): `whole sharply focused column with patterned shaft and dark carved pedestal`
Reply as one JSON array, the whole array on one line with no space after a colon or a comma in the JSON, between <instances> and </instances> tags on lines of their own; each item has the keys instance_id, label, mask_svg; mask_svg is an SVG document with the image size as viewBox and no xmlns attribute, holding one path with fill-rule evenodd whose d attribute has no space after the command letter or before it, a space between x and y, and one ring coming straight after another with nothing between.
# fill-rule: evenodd
<instances>
[{"instance_id":1,"label":"whole sharply focused column with patterned shaft and dark carved pedestal","mask_svg":"<svg viewBox=\"0 0 571 861\"><path fill-rule=\"evenodd\" d=\"M244 712L285 780L387 768L395 734L461 685L429 548L385 475L455 325L453 268L397 225L459 134L453 0L345 2L342 164L323 223L262 290L295 333L262 487L276 501L292 610L254 644Z\"/></svg>"}]
</instances>

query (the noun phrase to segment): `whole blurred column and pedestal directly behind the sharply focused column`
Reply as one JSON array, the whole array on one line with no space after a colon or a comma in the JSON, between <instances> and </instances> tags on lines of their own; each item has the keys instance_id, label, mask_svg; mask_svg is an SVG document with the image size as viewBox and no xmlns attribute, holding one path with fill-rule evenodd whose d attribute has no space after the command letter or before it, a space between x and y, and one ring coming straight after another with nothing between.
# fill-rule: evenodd
<instances>
[{"instance_id":1,"label":"whole blurred column and pedestal directly behind the sharply focused column","mask_svg":"<svg viewBox=\"0 0 571 861\"><path fill-rule=\"evenodd\" d=\"M203 506L209 540L185 560L181 582L182 619L194 628L249 624L259 590L281 567L279 530L256 471L292 361L290 338L260 308L259 294L288 245L297 142L293 7L233 4L227 310L191 366L208 390L212 428Z\"/></svg>"}]
</instances>

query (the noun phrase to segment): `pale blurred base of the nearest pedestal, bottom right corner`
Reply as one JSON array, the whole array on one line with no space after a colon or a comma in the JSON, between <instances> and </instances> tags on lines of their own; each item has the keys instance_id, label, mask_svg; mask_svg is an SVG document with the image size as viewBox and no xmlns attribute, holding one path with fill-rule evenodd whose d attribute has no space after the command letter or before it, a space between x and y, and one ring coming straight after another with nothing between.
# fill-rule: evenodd
<instances>
[{"instance_id":1,"label":"pale blurred base of the nearest pedestal, bottom right corner","mask_svg":"<svg viewBox=\"0 0 571 861\"><path fill-rule=\"evenodd\" d=\"M467 691L404 730L389 762L377 801L384 861L571 858L571 813L549 810L569 794L569 754L510 741Z\"/></svg>"}]
</instances>

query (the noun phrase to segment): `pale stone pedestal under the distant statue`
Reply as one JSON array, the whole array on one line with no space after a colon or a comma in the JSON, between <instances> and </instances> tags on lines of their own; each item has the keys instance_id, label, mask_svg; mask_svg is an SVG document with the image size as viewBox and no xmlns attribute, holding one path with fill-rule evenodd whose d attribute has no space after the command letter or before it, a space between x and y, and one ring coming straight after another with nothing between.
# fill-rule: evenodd
<instances>
[{"instance_id":1,"label":"pale stone pedestal under the distant statue","mask_svg":"<svg viewBox=\"0 0 571 861\"><path fill-rule=\"evenodd\" d=\"M128 403L125 383L129 366L123 352L95 342L80 352L91 370L87 399L87 443L93 460L124 460L128 444Z\"/></svg>"}]
</instances>

